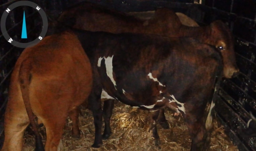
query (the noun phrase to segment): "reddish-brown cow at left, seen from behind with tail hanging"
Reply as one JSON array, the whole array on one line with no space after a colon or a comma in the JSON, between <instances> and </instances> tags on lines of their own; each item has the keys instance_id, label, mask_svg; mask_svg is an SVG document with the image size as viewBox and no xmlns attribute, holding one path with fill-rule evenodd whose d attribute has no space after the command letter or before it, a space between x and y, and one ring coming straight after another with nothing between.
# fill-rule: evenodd
<instances>
[{"instance_id":1,"label":"reddish-brown cow at left, seen from behind with tail hanging","mask_svg":"<svg viewBox=\"0 0 256 151\"><path fill-rule=\"evenodd\" d=\"M37 136L36 150L43 150L33 114L45 125L46 151L57 151L68 114L73 120L73 135L80 137L78 106L91 88L91 65L73 33L48 36L26 48L11 75L2 151L22 150L30 122Z\"/></svg>"}]
</instances>

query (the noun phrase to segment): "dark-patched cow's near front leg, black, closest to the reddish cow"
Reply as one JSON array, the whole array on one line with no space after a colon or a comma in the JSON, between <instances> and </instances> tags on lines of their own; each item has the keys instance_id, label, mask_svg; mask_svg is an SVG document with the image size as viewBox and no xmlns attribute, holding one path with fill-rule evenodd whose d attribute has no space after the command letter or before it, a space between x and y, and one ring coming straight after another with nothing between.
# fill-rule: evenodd
<instances>
[{"instance_id":1,"label":"dark-patched cow's near front leg, black, closest to the reddish cow","mask_svg":"<svg viewBox=\"0 0 256 151\"><path fill-rule=\"evenodd\" d=\"M89 100L90 109L92 111L94 127L95 127L95 137L94 137L94 142L92 144L92 147L99 148L100 145L102 144L102 135L101 135L102 109L101 109L100 95L96 95L92 92L88 100Z\"/></svg>"}]
</instances>

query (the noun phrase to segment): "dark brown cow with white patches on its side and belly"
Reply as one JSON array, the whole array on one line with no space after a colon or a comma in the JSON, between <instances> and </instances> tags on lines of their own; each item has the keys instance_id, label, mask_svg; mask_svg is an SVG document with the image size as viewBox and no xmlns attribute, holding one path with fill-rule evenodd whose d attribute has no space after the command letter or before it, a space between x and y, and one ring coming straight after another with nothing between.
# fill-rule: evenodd
<instances>
[{"instance_id":1,"label":"dark brown cow with white patches on its side and belly","mask_svg":"<svg viewBox=\"0 0 256 151\"><path fill-rule=\"evenodd\" d=\"M102 143L102 96L145 110L173 109L174 102L186 121L191 150L209 147L210 133L203 115L212 99L216 77L218 81L222 78L218 51L190 38L77 34L93 70L93 89L88 98L95 124L92 147Z\"/></svg>"}]
</instances>

